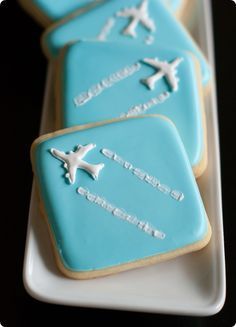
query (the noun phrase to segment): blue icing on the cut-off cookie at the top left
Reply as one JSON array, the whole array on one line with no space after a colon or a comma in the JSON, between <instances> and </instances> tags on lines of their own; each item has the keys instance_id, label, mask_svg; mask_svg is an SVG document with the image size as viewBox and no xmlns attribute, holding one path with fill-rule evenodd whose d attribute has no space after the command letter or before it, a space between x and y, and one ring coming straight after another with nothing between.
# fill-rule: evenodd
<instances>
[{"instance_id":1,"label":"blue icing on the cut-off cookie at the top left","mask_svg":"<svg viewBox=\"0 0 236 327\"><path fill-rule=\"evenodd\" d=\"M31 0L31 2L47 18L56 21L92 3L92 0Z\"/></svg>"}]
</instances>

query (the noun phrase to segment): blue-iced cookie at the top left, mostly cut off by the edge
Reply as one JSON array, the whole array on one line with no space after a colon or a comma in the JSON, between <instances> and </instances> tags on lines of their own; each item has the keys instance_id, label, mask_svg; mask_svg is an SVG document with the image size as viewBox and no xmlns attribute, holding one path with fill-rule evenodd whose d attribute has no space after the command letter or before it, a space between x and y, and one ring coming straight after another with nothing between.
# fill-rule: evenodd
<instances>
[{"instance_id":1,"label":"blue-iced cookie at the top left, mostly cut off by the edge","mask_svg":"<svg viewBox=\"0 0 236 327\"><path fill-rule=\"evenodd\" d=\"M43 26L78 11L88 10L103 0L18 0L22 7Z\"/></svg>"}]
</instances>

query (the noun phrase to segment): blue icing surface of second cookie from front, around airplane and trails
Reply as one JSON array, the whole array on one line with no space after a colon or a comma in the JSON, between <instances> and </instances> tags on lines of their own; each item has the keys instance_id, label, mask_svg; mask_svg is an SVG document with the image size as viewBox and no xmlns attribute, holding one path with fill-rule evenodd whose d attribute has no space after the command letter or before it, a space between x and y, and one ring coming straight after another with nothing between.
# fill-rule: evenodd
<instances>
[{"instance_id":1,"label":"blue icing surface of second cookie from front, around airplane and trails","mask_svg":"<svg viewBox=\"0 0 236 327\"><path fill-rule=\"evenodd\" d=\"M88 56L88 53L91 55ZM170 91L164 78L156 83L153 91L140 82L141 79L155 73L155 69L142 63L141 60L145 57L158 57L167 61L173 61L177 57L184 58L177 67L177 77L180 79L178 91L170 93L165 102L153 106L145 113L163 114L174 122L190 162L195 166L201 161L205 146L202 102L193 58L180 50L157 46L147 48L136 44L126 51L125 44L108 42L79 42L69 47L59 71L59 80L62 83L60 87L63 90L59 91L61 95L59 115L62 118L60 127L118 118L134 105L146 103L153 97ZM141 65L138 72L105 89L84 105L76 107L74 103L76 96L88 91L91 86L112 73L137 62Z\"/></svg>"}]
</instances>

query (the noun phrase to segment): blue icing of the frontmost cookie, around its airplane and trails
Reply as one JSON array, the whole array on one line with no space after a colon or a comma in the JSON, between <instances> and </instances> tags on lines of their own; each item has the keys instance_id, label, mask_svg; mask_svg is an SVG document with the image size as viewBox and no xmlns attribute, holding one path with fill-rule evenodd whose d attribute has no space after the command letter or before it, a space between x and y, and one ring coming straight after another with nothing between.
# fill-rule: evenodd
<instances>
[{"instance_id":1,"label":"blue icing of the frontmost cookie, around its airplane and trails","mask_svg":"<svg viewBox=\"0 0 236 327\"><path fill-rule=\"evenodd\" d=\"M144 132L142 132L144 131ZM165 141L163 141L165 140ZM95 143L89 163L105 164L98 181L77 170L68 185L63 164L51 148L70 151L77 144ZM162 183L184 193L183 201L171 199L130 171L102 155L108 148ZM160 118L131 119L42 140L33 151L35 173L56 247L64 265L73 271L104 269L168 253L206 236L207 220L184 147L174 126ZM166 237L154 238L136 226L79 195L87 188L127 213L149 222Z\"/></svg>"}]
</instances>

